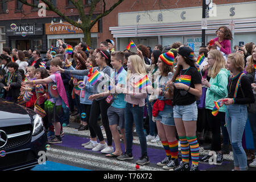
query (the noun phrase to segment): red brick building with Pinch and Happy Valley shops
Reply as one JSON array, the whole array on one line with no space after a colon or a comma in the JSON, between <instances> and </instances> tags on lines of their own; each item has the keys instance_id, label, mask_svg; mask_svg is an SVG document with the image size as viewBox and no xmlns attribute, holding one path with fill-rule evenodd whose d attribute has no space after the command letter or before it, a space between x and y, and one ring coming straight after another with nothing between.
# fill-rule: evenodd
<instances>
[{"instance_id":1,"label":"red brick building with Pinch and Happy Valley shops","mask_svg":"<svg viewBox=\"0 0 256 182\"><path fill-rule=\"evenodd\" d=\"M56 40L63 39L72 46L84 41L84 34L79 28L61 19L52 11L46 11L46 16L40 17L38 9L22 5L19 1L5 2L0 0L0 53L2 47L7 46L18 49L39 49L46 51L51 46L57 46ZM79 21L79 14L75 6L68 0L51 0L53 5L72 20ZM40 1L29 0L28 3L38 5ZM90 1L83 0L85 11L89 11ZM94 10L93 18L101 13L99 3ZM13 30L11 24L16 25ZM63 28L64 27L64 28ZM101 32L101 20L93 27L92 46L97 47L98 32ZM26 34L25 34L26 33ZM1 41L2 40L2 41Z\"/></svg>"}]
</instances>

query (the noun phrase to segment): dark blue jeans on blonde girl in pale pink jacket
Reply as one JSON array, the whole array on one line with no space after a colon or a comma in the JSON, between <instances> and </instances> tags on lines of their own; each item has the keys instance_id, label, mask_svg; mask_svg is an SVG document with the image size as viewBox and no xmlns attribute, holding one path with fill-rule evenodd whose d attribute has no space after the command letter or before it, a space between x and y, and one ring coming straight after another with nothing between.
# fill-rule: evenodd
<instances>
[{"instance_id":1,"label":"dark blue jeans on blonde girl in pale pink jacket","mask_svg":"<svg viewBox=\"0 0 256 182\"><path fill-rule=\"evenodd\" d=\"M144 106L139 107L127 102L125 107L125 137L126 137L126 151L128 154L133 154L133 122L135 124L136 133L139 137L141 145L141 155L147 155L147 140L143 132L143 114Z\"/></svg>"}]
</instances>

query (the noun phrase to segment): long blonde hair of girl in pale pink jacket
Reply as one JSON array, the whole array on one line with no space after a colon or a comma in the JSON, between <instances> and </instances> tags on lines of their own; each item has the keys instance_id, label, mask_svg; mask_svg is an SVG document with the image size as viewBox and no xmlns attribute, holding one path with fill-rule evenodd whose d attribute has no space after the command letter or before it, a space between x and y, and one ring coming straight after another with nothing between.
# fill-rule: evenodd
<instances>
[{"instance_id":1,"label":"long blonde hair of girl in pale pink jacket","mask_svg":"<svg viewBox=\"0 0 256 182\"><path fill-rule=\"evenodd\" d=\"M139 57L138 55L131 55L128 57L128 60L131 61L135 73L138 73L141 76L145 76L147 74L143 63L144 60L142 60L141 57ZM130 70L128 70L127 82L129 81L131 75L133 75L133 73Z\"/></svg>"}]
</instances>

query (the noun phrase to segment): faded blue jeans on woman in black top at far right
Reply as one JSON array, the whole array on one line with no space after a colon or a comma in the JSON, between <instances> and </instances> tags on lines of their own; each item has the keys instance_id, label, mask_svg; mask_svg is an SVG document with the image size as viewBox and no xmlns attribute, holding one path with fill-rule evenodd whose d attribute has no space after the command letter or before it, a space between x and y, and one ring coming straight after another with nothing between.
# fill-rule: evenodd
<instances>
[{"instance_id":1,"label":"faded blue jeans on woman in black top at far right","mask_svg":"<svg viewBox=\"0 0 256 182\"><path fill-rule=\"evenodd\" d=\"M242 147L242 136L247 121L246 105L227 105L226 129L233 148L234 166L241 171L247 169L247 158Z\"/></svg>"}]
</instances>

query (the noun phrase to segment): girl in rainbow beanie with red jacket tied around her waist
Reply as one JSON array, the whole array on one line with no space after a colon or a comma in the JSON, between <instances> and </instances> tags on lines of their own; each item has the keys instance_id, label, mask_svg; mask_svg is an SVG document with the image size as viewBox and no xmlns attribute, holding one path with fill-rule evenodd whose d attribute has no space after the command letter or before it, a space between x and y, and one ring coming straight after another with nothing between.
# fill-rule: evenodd
<instances>
[{"instance_id":1,"label":"girl in rainbow beanie with red jacket tied around her waist","mask_svg":"<svg viewBox=\"0 0 256 182\"><path fill-rule=\"evenodd\" d=\"M152 115L155 117L158 135L166 151L166 158L162 162L157 163L158 166L163 166L163 169L172 169L179 166L178 157L178 142L176 138L176 128L174 122L174 112L172 106L173 93L167 88L166 82L171 80L172 72L174 71L174 53L166 52L159 56L158 68L160 75L156 78L155 96L157 100L153 106ZM158 84L158 85L156 85ZM149 87L149 86L148 86ZM148 90L154 89L148 88Z\"/></svg>"}]
</instances>

